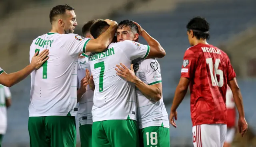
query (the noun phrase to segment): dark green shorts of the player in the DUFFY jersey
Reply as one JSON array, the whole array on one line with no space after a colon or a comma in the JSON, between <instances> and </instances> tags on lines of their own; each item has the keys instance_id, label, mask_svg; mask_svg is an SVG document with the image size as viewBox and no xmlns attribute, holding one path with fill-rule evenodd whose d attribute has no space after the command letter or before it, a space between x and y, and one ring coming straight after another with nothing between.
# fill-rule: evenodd
<instances>
[{"instance_id":1,"label":"dark green shorts of the player in the DUFFY jersey","mask_svg":"<svg viewBox=\"0 0 256 147\"><path fill-rule=\"evenodd\" d=\"M76 147L74 116L29 117L30 147Z\"/></svg>"}]
</instances>

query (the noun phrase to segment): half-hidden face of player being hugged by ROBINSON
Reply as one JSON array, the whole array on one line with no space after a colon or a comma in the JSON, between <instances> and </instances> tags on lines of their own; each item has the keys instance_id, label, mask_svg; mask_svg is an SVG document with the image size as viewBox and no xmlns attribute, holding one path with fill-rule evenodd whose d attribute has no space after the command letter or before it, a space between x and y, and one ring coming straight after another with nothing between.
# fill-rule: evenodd
<instances>
[{"instance_id":1,"label":"half-hidden face of player being hugged by ROBINSON","mask_svg":"<svg viewBox=\"0 0 256 147\"><path fill-rule=\"evenodd\" d=\"M129 27L122 27L116 30L117 42L124 40L136 41L138 39L138 33L134 34Z\"/></svg>"}]
</instances>

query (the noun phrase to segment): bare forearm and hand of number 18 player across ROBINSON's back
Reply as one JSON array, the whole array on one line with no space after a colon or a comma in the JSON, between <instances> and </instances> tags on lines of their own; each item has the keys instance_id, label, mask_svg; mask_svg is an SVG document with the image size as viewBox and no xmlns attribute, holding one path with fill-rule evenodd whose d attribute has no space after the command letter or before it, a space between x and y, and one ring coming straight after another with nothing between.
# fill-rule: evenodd
<instances>
[{"instance_id":1,"label":"bare forearm and hand of number 18 player across ROBINSON's back","mask_svg":"<svg viewBox=\"0 0 256 147\"><path fill-rule=\"evenodd\" d=\"M117 68L115 70L117 71L118 76L122 76L127 81L133 82L142 94L150 99L154 99L155 101L159 101L162 98L161 80L146 84L135 75L133 65L131 65L131 70L122 63L120 63L120 66L116 65L116 67Z\"/></svg>"}]
</instances>

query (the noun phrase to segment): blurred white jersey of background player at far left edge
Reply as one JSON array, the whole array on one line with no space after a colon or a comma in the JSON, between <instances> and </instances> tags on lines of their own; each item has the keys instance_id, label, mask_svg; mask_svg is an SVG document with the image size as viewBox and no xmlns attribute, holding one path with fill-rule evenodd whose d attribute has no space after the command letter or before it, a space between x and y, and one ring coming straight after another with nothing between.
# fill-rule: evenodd
<instances>
[{"instance_id":1,"label":"blurred white jersey of background player at far left edge","mask_svg":"<svg viewBox=\"0 0 256 147\"><path fill-rule=\"evenodd\" d=\"M0 134L5 134L7 129L7 112L6 112L7 98L11 98L10 89L0 84Z\"/></svg>"}]
</instances>

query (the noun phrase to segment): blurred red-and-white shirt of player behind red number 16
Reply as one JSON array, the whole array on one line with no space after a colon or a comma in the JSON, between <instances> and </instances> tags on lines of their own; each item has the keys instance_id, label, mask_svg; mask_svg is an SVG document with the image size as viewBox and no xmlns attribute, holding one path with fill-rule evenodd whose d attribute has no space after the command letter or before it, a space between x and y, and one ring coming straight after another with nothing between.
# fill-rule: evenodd
<instances>
[{"instance_id":1,"label":"blurred red-and-white shirt of player behind red number 16","mask_svg":"<svg viewBox=\"0 0 256 147\"><path fill-rule=\"evenodd\" d=\"M232 128L236 125L236 107L233 98L233 93L228 86L226 93L226 107L227 107L227 127Z\"/></svg>"}]
</instances>

